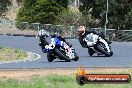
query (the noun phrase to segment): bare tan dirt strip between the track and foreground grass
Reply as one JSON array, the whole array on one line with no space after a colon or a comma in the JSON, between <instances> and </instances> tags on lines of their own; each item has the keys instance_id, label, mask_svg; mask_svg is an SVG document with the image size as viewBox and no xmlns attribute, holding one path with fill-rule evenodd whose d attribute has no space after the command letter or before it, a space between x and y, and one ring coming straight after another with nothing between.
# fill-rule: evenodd
<instances>
[{"instance_id":1,"label":"bare tan dirt strip between the track and foreground grass","mask_svg":"<svg viewBox=\"0 0 132 88\"><path fill-rule=\"evenodd\" d=\"M128 68L93 68L85 69L86 73L130 73ZM48 76L48 75L72 75L77 74L77 69L15 69L15 70L0 70L0 78L15 78L26 79L33 75Z\"/></svg>"}]
</instances>

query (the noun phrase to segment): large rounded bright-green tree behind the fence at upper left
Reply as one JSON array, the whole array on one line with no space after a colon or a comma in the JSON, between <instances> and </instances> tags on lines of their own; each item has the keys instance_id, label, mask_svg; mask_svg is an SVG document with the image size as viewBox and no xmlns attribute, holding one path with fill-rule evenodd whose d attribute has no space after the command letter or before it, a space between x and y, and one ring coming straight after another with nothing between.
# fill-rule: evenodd
<instances>
[{"instance_id":1,"label":"large rounded bright-green tree behind the fence at upper left","mask_svg":"<svg viewBox=\"0 0 132 88\"><path fill-rule=\"evenodd\" d=\"M63 0L24 0L16 20L55 24L57 16L67 7Z\"/></svg>"}]
</instances>

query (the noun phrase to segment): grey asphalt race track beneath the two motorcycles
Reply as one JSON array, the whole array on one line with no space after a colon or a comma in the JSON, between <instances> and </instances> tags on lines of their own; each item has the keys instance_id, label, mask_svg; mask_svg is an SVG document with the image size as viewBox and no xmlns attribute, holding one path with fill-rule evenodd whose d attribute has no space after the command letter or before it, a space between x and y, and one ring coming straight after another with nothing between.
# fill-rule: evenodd
<instances>
[{"instance_id":1,"label":"grey asphalt race track beneath the two motorcycles","mask_svg":"<svg viewBox=\"0 0 132 88\"><path fill-rule=\"evenodd\" d=\"M0 64L0 69L8 68L71 68L79 67L132 67L132 42L113 42L112 49L114 55L112 57L103 57L94 55L90 57L87 49L82 48L76 39L68 39L73 48L79 54L79 61L65 62L59 59L48 62L46 54L41 52L36 37L7 36L0 35L0 46L9 48L23 49L28 52L34 52L41 55L41 58L35 61L5 63Z\"/></svg>"}]
</instances>

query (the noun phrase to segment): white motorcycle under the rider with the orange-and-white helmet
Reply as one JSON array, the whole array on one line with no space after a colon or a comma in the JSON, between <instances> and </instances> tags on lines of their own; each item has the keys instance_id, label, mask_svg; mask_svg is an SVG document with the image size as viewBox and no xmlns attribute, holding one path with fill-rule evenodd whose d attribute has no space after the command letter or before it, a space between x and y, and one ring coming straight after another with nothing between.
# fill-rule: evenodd
<instances>
[{"instance_id":1,"label":"white motorcycle under the rider with the orange-and-white helmet","mask_svg":"<svg viewBox=\"0 0 132 88\"><path fill-rule=\"evenodd\" d=\"M88 53L92 56L94 53L99 55L105 55L110 57L113 55L110 44L108 44L104 39L99 37L96 34L90 33L84 38L84 41L87 43Z\"/></svg>"}]
</instances>

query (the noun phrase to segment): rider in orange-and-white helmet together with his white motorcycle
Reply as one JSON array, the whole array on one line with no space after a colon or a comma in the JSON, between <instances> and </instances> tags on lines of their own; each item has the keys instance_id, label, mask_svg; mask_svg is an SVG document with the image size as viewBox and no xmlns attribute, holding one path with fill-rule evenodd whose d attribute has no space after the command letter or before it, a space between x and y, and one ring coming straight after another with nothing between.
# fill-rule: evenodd
<instances>
[{"instance_id":1,"label":"rider in orange-and-white helmet together with his white motorcycle","mask_svg":"<svg viewBox=\"0 0 132 88\"><path fill-rule=\"evenodd\" d=\"M84 48L88 48L88 53L92 56L94 53L98 55L104 54L105 56L112 56L111 42L105 39L102 32L98 32L92 29L86 29L84 26L80 26L78 29L79 42ZM102 45L103 44L103 45Z\"/></svg>"}]
</instances>

